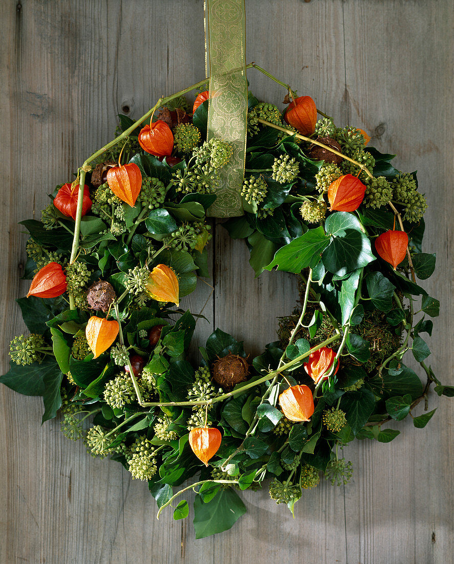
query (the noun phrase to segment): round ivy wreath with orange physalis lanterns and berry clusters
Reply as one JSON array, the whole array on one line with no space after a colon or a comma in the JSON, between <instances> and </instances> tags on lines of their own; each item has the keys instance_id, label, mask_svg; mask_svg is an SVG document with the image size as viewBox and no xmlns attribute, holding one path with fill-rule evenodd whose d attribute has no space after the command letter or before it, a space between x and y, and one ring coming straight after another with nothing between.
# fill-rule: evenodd
<instances>
[{"instance_id":1,"label":"round ivy wreath with orange physalis lanterns and berry clusters","mask_svg":"<svg viewBox=\"0 0 454 564\"><path fill-rule=\"evenodd\" d=\"M277 267L298 281L296 309L263 354L250 359L216 329L200 364L187 360L203 316L179 301L208 276L207 215L232 158L225 140L206 138L203 82L139 121L119 116L116 138L55 188L41 221L21 222L32 281L17 303L30 334L11 341L0 381L43 396L43 422L60 416L66 437L147 481L158 516L172 505L187 517L176 500L194 490L197 538L245 513L237 490L266 483L293 512L320 477L349 482L344 445L389 442L399 431L386 423L408 415L422 428L435 409L413 411L421 400L427 411L430 384L454 391L425 362L439 302L416 281L435 268L416 173L265 74L288 105L249 92L244 215L223 223L257 276ZM409 351L424 384L403 362Z\"/></svg>"}]
</instances>

